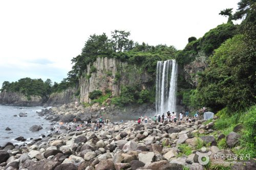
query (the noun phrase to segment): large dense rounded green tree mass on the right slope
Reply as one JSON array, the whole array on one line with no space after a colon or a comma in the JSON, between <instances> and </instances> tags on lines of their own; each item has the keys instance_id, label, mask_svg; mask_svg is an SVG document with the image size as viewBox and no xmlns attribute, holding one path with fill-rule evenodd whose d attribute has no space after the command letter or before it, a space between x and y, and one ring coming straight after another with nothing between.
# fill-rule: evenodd
<instances>
[{"instance_id":1,"label":"large dense rounded green tree mass on the right slope","mask_svg":"<svg viewBox=\"0 0 256 170\"><path fill-rule=\"evenodd\" d=\"M236 35L215 50L197 88L203 105L235 111L255 103L256 61L247 47L243 36Z\"/></svg>"}]
</instances>

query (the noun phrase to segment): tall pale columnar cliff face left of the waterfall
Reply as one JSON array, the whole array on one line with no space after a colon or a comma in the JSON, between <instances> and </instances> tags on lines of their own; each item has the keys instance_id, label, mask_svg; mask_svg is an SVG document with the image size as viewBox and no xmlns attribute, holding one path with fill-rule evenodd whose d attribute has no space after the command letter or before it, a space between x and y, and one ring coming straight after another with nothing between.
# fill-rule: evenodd
<instances>
[{"instance_id":1,"label":"tall pale columnar cliff face left of the waterfall","mask_svg":"<svg viewBox=\"0 0 256 170\"><path fill-rule=\"evenodd\" d=\"M92 72L91 66L88 65L79 80L80 102L89 103L89 93L94 90L101 90L104 94L106 89L109 89L112 96L117 96L121 86L138 85L145 89L153 81L152 76L139 66L114 58L97 58L93 66L96 71Z\"/></svg>"}]
</instances>

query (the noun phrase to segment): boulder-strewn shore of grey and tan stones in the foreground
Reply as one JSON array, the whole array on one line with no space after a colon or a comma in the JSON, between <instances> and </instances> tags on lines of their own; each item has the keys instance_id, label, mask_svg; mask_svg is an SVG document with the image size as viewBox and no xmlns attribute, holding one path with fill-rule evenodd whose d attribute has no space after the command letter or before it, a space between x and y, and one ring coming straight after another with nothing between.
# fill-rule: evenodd
<instances>
[{"instance_id":1,"label":"boulder-strewn shore of grey and tan stones in the foreground","mask_svg":"<svg viewBox=\"0 0 256 170\"><path fill-rule=\"evenodd\" d=\"M51 110L46 112L38 114L56 116ZM222 165L231 169L255 168L253 160L232 164L234 159L217 158L215 155L233 154L230 149L220 150L217 141L226 138L226 144L233 147L239 135L216 132L216 136L212 136L215 120L204 122L201 117L192 123L176 124L138 125L128 121L103 125L98 131L87 126L81 131L63 130L28 145L8 142L0 149L0 169L207 169L207 165L199 163L198 152L208 154L211 164L225 161ZM200 148L203 146L200 143L205 144L206 150ZM191 153L185 153L184 146L191 149Z\"/></svg>"}]
</instances>

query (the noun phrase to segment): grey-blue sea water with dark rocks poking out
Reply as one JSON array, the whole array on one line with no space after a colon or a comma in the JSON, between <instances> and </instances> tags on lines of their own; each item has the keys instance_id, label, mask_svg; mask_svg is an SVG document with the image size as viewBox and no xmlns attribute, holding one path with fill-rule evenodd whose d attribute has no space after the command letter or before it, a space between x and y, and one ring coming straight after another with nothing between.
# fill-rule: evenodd
<instances>
[{"instance_id":1,"label":"grey-blue sea water with dark rocks poking out","mask_svg":"<svg viewBox=\"0 0 256 170\"><path fill-rule=\"evenodd\" d=\"M41 134L47 135L50 132L50 122L45 120L45 117L38 116L36 111L41 111L41 109L44 108L0 105L0 145L9 141L14 144L29 143L32 141L30 138L38 138ZM20 112L28 113L28 116L19 117ZM16 117L13 116L15 114ZM33 125L40 125L43 129L31 132L29 128ZM7 127L11 130L6 131ZM24 142L14 140L19 136L23 136L27 140Z\"/></svg>"}]
</instances>

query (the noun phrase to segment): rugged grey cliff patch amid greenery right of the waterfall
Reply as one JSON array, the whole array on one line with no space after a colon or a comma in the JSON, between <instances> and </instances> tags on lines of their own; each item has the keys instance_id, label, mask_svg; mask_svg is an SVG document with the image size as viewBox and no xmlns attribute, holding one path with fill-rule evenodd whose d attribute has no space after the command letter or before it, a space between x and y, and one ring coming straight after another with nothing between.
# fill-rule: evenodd
<instances>
[{"instance_id":1,"label":"rugged grey cliff patch amid greenery right of the waterfall","mask_svg":"<svg viewBox=\"0 0 256 170\"><path fill-rule=\"evenodd\" d=\"M186 81L193 85L197 86L198 84L198 72L203 71L207 67L206 59L208 56L206 56L204 53L199 52L196 56L196 59L185 65L183 68L183 71L185 72L185 79Z\"/></svg>"}]
</instances>

